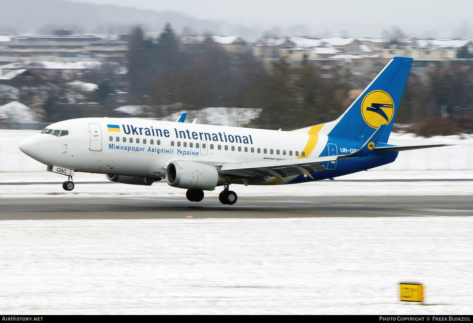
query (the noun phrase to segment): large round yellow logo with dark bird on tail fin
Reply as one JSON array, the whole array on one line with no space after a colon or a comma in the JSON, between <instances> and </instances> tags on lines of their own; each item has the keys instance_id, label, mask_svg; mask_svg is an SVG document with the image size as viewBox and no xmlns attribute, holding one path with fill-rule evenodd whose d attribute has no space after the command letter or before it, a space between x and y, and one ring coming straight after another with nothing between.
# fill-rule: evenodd
<instances>
[{"instance_id":1,"label":"large round yellow logo with dark bird on tail fin","mask_svg":"<svg viewBox=\"0 0 473 323\"><path fill-rule=\"evenodd\" d=\"M372 128L391 122L394 116L394 101L391 95L383 90L368 93L361 102L361 116Z\"/></svg>"}]
</instances>

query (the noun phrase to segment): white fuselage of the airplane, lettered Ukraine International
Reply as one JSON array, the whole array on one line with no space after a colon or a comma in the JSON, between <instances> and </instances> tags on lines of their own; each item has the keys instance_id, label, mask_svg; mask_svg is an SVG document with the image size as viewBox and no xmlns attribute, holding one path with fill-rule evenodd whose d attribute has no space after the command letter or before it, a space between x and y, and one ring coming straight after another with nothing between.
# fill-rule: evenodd
<instances>
[{"instance_id":1,"label":"white fuselage of the airplane, lettered Ukraine International","mask_svg":"<svg viewBox=\"0 0 473 323\"><path fill-rule=\"evenodd\" d=\"M328 140L319 134L314 149L303 157L309 135L301 132L133 118L71 119L47 128L67 130L68 134L36 134L26 139L22 151L46 165L142 177L164 174L166 165L173 160L197 161L218 168L228 162L291 161L318 156Z\"/></svg>"}]
</instances>

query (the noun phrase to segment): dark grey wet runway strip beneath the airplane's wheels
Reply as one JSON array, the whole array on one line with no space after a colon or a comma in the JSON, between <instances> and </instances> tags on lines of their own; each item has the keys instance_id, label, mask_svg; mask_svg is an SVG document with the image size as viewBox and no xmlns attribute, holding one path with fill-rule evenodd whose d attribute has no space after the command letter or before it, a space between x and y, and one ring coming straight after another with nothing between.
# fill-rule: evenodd
<instances>
[{"instance_id":1,"label":"dark grey wet runway strip beneath the airplane's wheels","mask_svg":"<svg viewBox=\"0 0 473 323\"><path fill-rule=\"evenodd\" d=\"M472 216L472 195L243 196L220 204L214 196L199 203L185 197L53 195L2 198L0 220L196 219Z\"/></svg>"}]
</instances>

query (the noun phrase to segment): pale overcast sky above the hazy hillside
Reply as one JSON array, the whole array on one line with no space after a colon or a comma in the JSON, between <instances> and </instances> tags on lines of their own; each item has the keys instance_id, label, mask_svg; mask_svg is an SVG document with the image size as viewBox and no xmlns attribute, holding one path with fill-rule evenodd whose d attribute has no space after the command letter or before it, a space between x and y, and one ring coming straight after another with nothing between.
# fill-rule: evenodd
<instances>
[{"instance_id":1,"label":"pale overcast sky above the hazy hillside","mask_svg":"<svg viewBox=\"0 0 473 323\"><path fill-rule=\"evenodd\" d=\"M122 7L172 10L198 19L223 20L246 26L382 30L400 26L408 34L453 36L463 26L470 30L473 0L73 0ZM382 2L382 3L381 3ZM339 28L339 30L336 30ZM314 30L316 29L316 30ZM334 30L335 29L335 30ZM378 33L379 34L379 33ZM471 36L471 35L468 35Z\"/></svg>"}]
</instances>

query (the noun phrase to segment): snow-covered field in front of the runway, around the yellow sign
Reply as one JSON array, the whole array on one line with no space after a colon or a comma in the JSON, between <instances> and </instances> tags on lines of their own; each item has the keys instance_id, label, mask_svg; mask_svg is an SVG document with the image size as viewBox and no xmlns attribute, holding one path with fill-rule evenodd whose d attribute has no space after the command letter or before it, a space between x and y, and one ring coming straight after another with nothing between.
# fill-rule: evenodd
<instances>
[{"instance_id":1,"label":"snow-covered field in front of the runway, around the yellow sign","mask_svg":"<svg viewBox=\"0 0 473 323\"><path fill-rule=\"evenodd\" d=\"M0 221L3 314L473 314L472 217ZM426 305L401 304L400 281Z\"/></svg>"}]
</instances>

